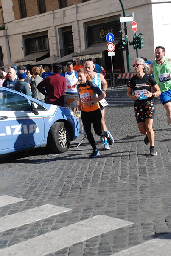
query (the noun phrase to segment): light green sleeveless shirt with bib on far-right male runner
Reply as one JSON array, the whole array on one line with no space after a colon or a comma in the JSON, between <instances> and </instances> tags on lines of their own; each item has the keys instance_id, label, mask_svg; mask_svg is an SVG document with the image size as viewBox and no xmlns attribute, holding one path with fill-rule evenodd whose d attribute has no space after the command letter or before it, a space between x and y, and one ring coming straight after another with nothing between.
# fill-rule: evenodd
<instances>
[{"instance_id":1,"label":"light green sleeveless shirt with bib on far-right male runner","mask_svg":"<svg viewBox=\"0 0 171 256\"><path fill-rule=\"evenodd\" d=\"M168 58L165 58L165 62L162 65L158 65L156 61L153 61L153 74L161 92L171 90L171 80L166 75L171 73L171 64Z\"/></svg>"}]
</instances>

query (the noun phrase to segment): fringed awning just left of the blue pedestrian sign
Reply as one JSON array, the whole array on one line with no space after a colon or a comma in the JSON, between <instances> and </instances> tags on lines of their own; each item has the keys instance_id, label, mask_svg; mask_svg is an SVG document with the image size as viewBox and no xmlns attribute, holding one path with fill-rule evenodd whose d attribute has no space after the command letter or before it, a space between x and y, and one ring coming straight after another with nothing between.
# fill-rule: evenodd
<instances>
[{"instance_id":1,"label":"fringed awning just left of the blue pedestrian sign","mask_svg":"<svg viewBox=\"0 0 171 256\"><path fill-rule=\"evenodd\" d=\"M80 58L81 60L102 58L102 52L104 52L105 50L107 50L107 42L92 44L84 51L78 53L77 55L73 55L73 61L75 61L76 58Z\"/></svg>"}]
</instances>

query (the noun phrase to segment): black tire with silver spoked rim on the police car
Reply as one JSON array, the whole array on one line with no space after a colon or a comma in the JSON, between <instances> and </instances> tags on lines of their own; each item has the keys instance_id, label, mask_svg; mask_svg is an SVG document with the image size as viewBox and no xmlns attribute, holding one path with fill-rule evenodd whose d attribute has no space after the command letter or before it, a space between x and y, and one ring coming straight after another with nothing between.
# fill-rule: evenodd
<instances>
[{"instance_id":1,"label":"black tire with silver spoked rim on the police car","mask_svg":"<svg viewBox=\"0 0 171 256\"><path fill-rule=\"evenodd\" d=\"M54 153L64 153L70 147L70 136L64 122L56 122L50 127L48 145Z\"/></svg>"}]
</instances>

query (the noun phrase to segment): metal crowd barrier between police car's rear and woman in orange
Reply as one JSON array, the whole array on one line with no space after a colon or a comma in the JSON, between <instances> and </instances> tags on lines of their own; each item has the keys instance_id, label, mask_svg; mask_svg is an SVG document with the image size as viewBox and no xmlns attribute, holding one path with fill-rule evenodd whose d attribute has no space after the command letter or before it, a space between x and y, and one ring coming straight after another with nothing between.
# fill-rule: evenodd
<instances>
[{"instance_id":1,"label":"metal crowd barrier between police car's rear and woman in orange","mask_svg":"<svg viewBox=\"0 0 171 256\"><path fill-rule=\"evenodd\" d=\"M78 111L78 95L71 95L71 94L63 94L63 99L64 99L64 108L69 108L70 110L73 111L74 115L76 118L78 118L79 125L80 125L80 134L83 134L83 138L81 141L78 143L76 148L81 145L84 139L87 139L86 133L84 131L84 126L81 120L81 111Z\"/></svg>"}]
</instances>

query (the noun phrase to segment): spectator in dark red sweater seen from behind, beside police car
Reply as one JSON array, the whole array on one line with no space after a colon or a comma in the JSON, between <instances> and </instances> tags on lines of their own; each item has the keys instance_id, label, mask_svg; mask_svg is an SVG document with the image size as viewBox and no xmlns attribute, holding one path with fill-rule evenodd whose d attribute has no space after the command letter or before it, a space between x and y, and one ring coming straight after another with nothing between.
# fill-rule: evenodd
<instances>
[{"instance_id":1,"label":"spectator in dark red sweater seen from behind, beside police car","mask_svg":"<svg viewBox=\"0 0 171 256\"><path fill-rule=\"evenodd\" d=\"M58 63L53 64L52 76L46 77L37 85L37 89L46 97L46 103L63 106L64 101L62 94L66 89L66 78L60 76L62 65Z\"/></svg>"}]
</instances>

